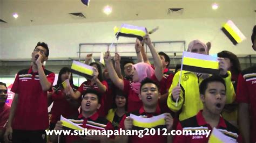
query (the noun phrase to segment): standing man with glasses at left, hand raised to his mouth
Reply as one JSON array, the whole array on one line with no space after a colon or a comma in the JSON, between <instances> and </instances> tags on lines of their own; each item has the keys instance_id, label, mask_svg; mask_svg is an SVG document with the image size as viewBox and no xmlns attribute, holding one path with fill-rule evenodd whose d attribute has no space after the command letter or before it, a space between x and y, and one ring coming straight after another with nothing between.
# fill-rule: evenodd
<instances>
[{"instance_id":1,"label":"standing man with glasses at left, hand raised to his mouth","mask_svg":"<svg viewBox=\"0 0 256 143\"><path fill-rule=\"evenodd\" d=\"M42 65L48 55L48 45L38 42L31 53L31 67L20 70L15 78L6 141L46 142L45 130L49 127L47 92L55 78L55 74Z\"/></svg>"}]
</instances>

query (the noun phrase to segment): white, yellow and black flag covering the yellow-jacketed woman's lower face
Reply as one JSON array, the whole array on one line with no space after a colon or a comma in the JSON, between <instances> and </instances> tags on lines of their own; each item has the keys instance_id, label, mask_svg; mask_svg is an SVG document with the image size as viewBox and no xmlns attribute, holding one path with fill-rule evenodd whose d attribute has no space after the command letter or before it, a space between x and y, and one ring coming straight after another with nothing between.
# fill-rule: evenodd
<instances>
[{"instance_id":1,"label":"white, yellow and black flag covering the yellow-jacketed woman's lower face","mask_svg":"<svg viewBox=\"0 0 256 143\"><path fill-rule=\"evenodd\" d=\"M219 74L218 57L210 55L183 52L181 67L182 70L196 73Z\"/></svg>"}]
</instances>

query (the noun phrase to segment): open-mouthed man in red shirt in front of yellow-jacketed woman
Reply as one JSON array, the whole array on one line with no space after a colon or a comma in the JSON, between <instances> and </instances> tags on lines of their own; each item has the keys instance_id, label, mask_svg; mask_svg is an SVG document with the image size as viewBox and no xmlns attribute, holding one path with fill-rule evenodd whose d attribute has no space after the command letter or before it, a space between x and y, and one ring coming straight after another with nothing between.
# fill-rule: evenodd
<instances>
[{"instance_id":1,"label":"open-mouthed man in red shirt in front of yellow-jacketed woman","mask_svg":"<svg viewBox=\"0 0 256 143\"><path fill-rule=\"evenodd\" d=\"M217 128L231 140L238 140L238 129L220 116L226 102L226 84L220 76L211 76L199 86L200 98L204 108L196 116L178 123L176 130L203 130L205 134L175 135L173 142L208 142L209 133ZM199 96L199 95L198 95ZM207 133L207 132L208 133ZM207 137L208 135L208 137Z\"/></svg>"}]
</instances>

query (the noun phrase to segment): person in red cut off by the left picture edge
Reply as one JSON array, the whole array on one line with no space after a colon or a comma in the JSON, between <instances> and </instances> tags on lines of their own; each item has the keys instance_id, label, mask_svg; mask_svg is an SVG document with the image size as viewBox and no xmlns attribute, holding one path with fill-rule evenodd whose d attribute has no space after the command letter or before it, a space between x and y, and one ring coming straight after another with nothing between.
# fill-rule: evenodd
<instances>
[{"instance_id":1,"label":"person in red cut off by the left picture edge","mask_svg":"<svg viewBox=\"0 0 256 143\"><path fill-rule=\"evenodd\" d=\"M0 142L4 142L5 126L10 113L10 107L5 104L7 97L6 84L0 82Z\"/></svg>"}]
</instances>

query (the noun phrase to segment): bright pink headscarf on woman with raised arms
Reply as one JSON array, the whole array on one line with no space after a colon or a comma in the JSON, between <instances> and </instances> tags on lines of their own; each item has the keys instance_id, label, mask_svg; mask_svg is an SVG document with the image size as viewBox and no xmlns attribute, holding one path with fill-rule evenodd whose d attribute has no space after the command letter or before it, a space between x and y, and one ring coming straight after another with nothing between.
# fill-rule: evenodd
<instances>
[{"instance_id":1,"label":"bright pink headscarf on woman with raised arms","mask_svg":"<svg viewBox=\"0 0 256 143\"><path fill-rule=\"evenodd\" d=\"M133 65L135 70L138 73L139 81L138 82L132 82L132 89L139 94L139 88L140 88L140 82L144 80L144 78L149 77L151 78L154 74L154 69L147 63L139 62Z\"/></svg>"}]
</instances>

